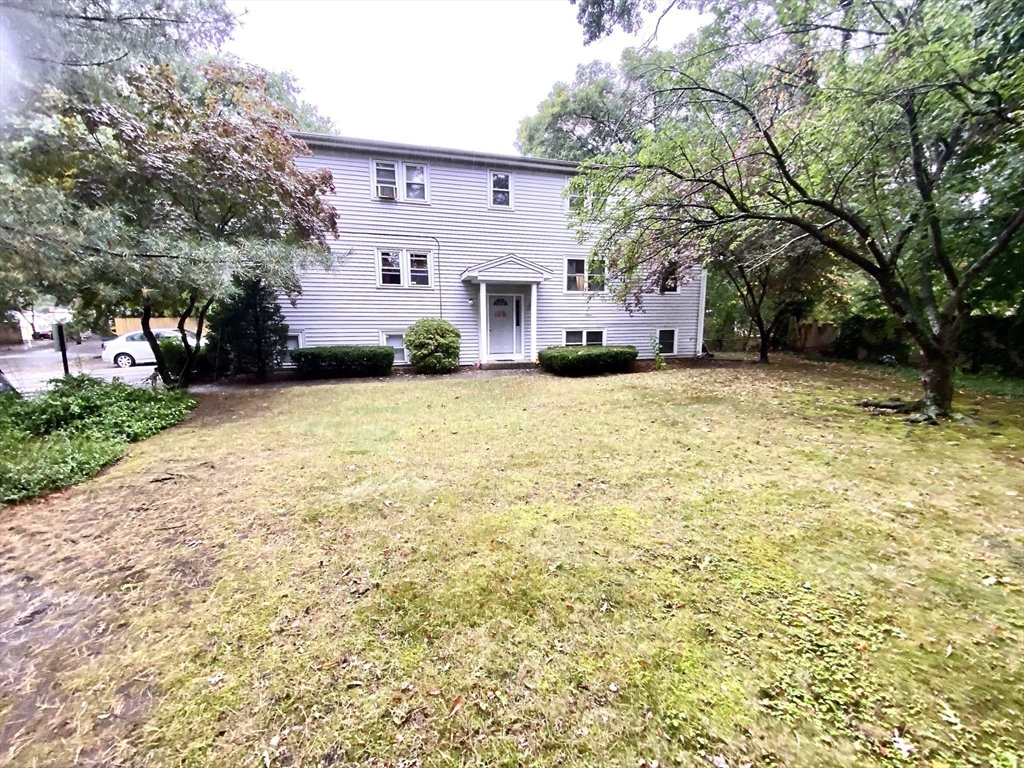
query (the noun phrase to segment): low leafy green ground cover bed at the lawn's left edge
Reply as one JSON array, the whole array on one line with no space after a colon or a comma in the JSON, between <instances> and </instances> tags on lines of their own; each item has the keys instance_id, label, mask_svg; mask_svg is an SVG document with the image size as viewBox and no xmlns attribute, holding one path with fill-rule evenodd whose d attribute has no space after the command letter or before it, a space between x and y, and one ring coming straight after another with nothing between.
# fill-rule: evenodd
<instances>
[{"instance_id":1,"label":"low leafy green ground cover bed at the lawn's left edge","mask_svg":"<svg viewBox=\"0 0 1024 768\"><path fill-rule=\"evenodd\" d=\"M195 401L89 376L59 379L33 399L0 393L0 502L91 477L141 440L181 421Z\"/></svg>"}]
</instances>

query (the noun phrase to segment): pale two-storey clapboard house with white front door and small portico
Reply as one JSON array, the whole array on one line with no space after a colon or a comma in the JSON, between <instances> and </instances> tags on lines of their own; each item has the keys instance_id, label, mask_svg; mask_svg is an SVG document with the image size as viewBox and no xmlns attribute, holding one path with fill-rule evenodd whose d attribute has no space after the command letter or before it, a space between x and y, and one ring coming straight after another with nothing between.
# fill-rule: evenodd
<instances>
[{"instance_id":1,"label":"pale two-storey clapboard house with white front door and small portico","mask_svg":"<svg viewBox=\"0 0 1024 768\"><path fill-rule=\"evenodd\" d=\"M629 314L589 247L568 228L573 163L300 133L299 163L334 175L340 240L330 269L307 271L285 302L291 346L387 344L407 361L406 328L443 317L462 365L536 361L539 349L632 344L653 356L700 352L706 275Z\"/></svg>"}]
</instances>

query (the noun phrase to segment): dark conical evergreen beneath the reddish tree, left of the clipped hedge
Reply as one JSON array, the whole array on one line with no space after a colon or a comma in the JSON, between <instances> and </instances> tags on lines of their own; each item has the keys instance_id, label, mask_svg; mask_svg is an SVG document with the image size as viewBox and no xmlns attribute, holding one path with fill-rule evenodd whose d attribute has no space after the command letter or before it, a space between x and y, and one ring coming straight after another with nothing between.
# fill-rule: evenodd
<instances>
[{"instance_id":1,"label":"dark conical evergreen beneath the reddish tree, left of the clipped hedge","mask_svg":"<svg viewBox=\"0 0 1024 768\"><path fill-rule=\"evenodd\" d=\"M259 381L281 368L288 353L288 326L278 291L262 278L234 281L236 293L215 310L210 325L231 373Z\"/></svg>"}]
</instances>

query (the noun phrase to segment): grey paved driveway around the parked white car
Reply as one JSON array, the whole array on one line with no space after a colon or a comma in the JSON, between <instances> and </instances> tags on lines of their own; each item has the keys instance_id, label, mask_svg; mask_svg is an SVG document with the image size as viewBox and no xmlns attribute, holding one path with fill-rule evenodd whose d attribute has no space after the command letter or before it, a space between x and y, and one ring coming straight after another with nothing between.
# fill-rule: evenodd
<instances>
[{"instance_id":1,"label":"grey paved driveway around the parked white car","mask_svg":"<svg viewBox=\"0 0 1024 768\"><path fill-rule=\"evenodd\" d=\"M153 366L115 368L100 358L98 339L71 343L68 346L68 368L72 374L89 374L97 379L121 379L129 384L142 384L152 376ZM49 380L63 376L60 351L52 341L34 341L16 346L0 347L0 370L22 394L32 394L49 387Z\"/></svg>"}]
</instances>

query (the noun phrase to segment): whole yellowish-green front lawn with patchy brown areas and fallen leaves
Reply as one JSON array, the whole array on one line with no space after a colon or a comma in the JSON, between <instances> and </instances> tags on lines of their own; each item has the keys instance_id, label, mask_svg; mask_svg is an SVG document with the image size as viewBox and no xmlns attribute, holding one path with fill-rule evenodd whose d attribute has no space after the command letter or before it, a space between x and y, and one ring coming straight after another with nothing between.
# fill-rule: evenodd
<instances>
[{"instance_id":1,"label":"whole yellowish-green front lawn with patchy brown areas and fallen leaves","mask_svg":"<svg viewBox=\"0 0 1024 768\"><path fill-rule=\"evenodd\" d=\"M5 512L0 760L1019 766L1021 403L850 404L913 393L782 359L208 395Z\"/></svg>"}]
</instances>

